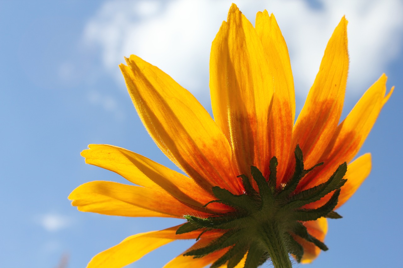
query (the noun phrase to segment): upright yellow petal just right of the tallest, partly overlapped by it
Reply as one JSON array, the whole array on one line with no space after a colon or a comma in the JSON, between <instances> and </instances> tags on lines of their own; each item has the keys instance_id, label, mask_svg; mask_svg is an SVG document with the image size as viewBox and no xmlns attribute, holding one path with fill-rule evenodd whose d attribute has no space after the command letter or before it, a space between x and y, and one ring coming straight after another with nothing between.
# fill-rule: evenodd
<instances>
[{"instance_id":1,"label":"upright yellow petal just right of the tallest, partly overlapped by it","mask_svg":"<svg viewBox=\"0 0 403 268\"><path fill-rule=\"evenodd\" d=\"M269 156L278 160L277 177L284 177L291 154L291 139L295 118L295 92L287 45L273 14L267 10L256 15L256 32L273 77L273 105L268 123Z\"/></svg>"}]
</instances>

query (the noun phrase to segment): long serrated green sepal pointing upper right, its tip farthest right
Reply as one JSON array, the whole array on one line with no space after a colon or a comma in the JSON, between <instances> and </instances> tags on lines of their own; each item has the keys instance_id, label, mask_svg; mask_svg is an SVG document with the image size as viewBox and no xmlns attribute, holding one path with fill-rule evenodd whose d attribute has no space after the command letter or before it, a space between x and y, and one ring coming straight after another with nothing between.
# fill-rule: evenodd
<instances>
[{"instance_id":1,"label":"long serrated green sepal pointing upper right, its tip farthest right","mask_svg":"<svg viewBox=\"0 0 403 268\"><path fill-rule=\"evenodd\" d=\"M305 206L307 204L316 202L321 198L323 198L324 196L326 196L327 194L330 194L334 190L340 188L347 181L343 179L346 171L347 171L347 163L344 162L337 168L336 171L334 171L334 173L330 176L330 178L326 182L321 183L318 186L315 186L308 190L302 191L296 194L295 196L292 196L291 202L285 205L283 209L290 210L293 208L299 208L301 206Z\"/></svg>"}]
</instances>

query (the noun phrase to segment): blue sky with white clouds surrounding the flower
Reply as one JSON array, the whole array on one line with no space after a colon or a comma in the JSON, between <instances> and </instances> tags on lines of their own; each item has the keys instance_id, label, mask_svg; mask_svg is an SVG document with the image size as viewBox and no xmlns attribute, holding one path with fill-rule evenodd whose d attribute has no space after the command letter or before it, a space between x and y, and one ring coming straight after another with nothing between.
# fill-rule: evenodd
<instances>
[{"instance_id":1,"label":"blue sky with white clouds surrounding the flower","mask_svg":"<svg viewBox=\"0 0 403 268\"><path fill-rule=\"evenodd\" d=\"M372 173L329 220L328 252L296 267L396 267L402 247L403 1L235 2L254 23L276 16L291 56L297 114L326 43L345 14L350 71L342 118L385 72L395 93L359 155ZM0 267L85 267L98 252L180 219L79 212L67 199L82 183L125 179L86 165L90 143L113 144L172 169L141 124L118 64L136 54L158 66L211 113L211 42L231 1L0 0ZM400 174L400 175L399 175ZM129 182L127 182L129 183ZM129 267L161 267L193 241L170 243ZM264 264L263 267L267 267Z\"/></svg>"}]
</instances>

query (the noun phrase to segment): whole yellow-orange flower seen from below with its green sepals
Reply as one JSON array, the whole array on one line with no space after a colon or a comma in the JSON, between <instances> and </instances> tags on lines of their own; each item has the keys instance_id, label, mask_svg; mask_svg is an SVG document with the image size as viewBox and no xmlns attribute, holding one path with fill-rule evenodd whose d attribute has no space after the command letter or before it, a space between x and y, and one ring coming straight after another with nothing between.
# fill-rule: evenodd
<instances>
[{"instance_id":1,"label":"whole yellow-orange flower seen from below with its green sepals","mask_svg":"<svg viewBox=\"0 0 403 268\"><path fill-rule=\"evenodd\" d=\"M289 253L307 263L326 250L326 217L340 218L334 210L369 175L370 154L353 157L393 92L385 96L382 74L339 124L346 26L343 17L295 124L287 46L266 10L253 27L233 4L212 43L214 120L170 76L137 56L126 58L120 69L143 124L186 175L123 148L90 144L81 153L86 163L138 186L92 181L69 199L81 211L187 222L127 237L88 267L123 267L176 239L197 242L165 267L257 267L269 257L286 267Z\"/></svg>"}]
</instances>

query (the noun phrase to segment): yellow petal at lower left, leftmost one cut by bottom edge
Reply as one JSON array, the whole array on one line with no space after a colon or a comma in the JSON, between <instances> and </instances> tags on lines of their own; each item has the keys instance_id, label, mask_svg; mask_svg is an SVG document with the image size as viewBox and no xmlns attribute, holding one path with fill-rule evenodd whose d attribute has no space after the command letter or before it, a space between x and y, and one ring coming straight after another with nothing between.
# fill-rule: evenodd
<instances>
[{"instance_id":1,"label":"yellow petal at lower left, leftmost one cut by bottom edge","mask_svg":"<svg viewBox=\"0 0 403 268\"><path fill-rule=\"evenodd\" d=\"M119 244L94 256L87 268L121 268L139 260L154 249L176 239L196 238L200 231L176 235L178 226L162 231L139 233L127 237Z\"/></svg>"}]
</instances>

